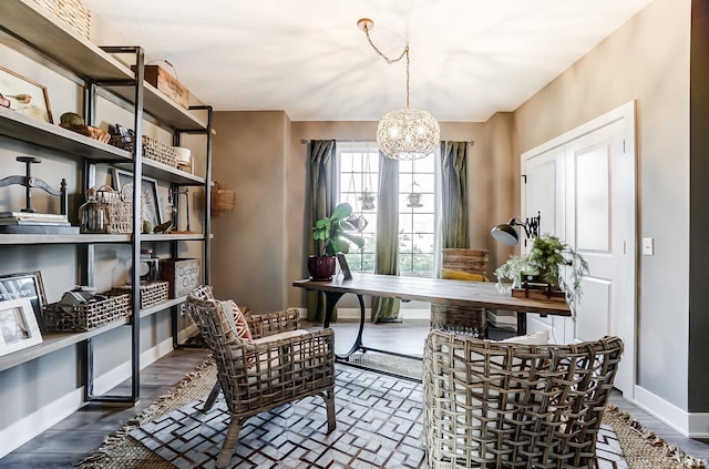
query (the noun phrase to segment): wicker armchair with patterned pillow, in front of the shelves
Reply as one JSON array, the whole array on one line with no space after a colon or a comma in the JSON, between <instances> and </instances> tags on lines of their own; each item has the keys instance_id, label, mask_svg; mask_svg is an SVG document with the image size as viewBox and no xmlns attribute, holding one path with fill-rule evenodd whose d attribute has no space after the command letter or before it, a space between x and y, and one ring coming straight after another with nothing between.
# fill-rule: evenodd
<instances>
[{"instance_id":1,"label":"wicker armchair with patterned pillow, in front of the shelves","mask_svg":"<svg viewBox=\"0 0 709 469\"><path fill-rule=\"evenodd\" d=\"M247 341L236 335L222 302L209 296L210 288L198 287L187 296L185 308L214 355L218 385L230 416L217 467L228 466L247 418L304 397L322 396L327 431L332 431L336 426L332 329L292 330L297 327L292 327L291 312L274 313L250 318L253 334L259 338ZM273 330L278 333L269 337ZM215 387L214 398L218 391Z\"/></svg>"}]
</instances>

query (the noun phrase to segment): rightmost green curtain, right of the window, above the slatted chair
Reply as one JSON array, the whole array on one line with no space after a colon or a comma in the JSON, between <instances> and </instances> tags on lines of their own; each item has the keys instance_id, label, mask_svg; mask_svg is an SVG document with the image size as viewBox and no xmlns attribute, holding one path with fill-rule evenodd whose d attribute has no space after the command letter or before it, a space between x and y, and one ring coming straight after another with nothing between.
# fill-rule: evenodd
<instances>
[{"instance_id":1,"label":"rightmost green curtain, right of the window, above the slatted chair","mask_svg":"<svg viewBox=\"0 0 709 469\"><path fill-rule=\"evenodd\" d=\"M469 247L467 142L441 142L441 247Z\"/></svg>"}]
</instances>

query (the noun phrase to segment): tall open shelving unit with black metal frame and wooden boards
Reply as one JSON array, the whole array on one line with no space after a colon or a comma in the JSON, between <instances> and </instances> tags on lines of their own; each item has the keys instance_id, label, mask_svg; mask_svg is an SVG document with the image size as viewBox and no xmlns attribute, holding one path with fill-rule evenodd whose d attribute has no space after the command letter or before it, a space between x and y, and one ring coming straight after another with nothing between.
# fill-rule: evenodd
<instances>
[{"instance_id":1,"label":"tall open shelving unit with black metal frame and wooden boards","mask_svg":"<svg viewBox=\"0 0 709 469\"><path fill-rule=\"evenodd\" d=\"M173 143L179 144L184 133L204 134L206 136L206 171L205 177L179 171L165 164L144 160L141 145L131 154L124 150L91 140L81 134L62 129L59 125L31 120L12 110L0 108L0 135L34 145L41 149L61 153L63 157L84 165L81 187L73 187L82 192L93 184L93 172L96 164L110 164L133 172L135 179L143 176L171 184L171 190L179 187L205 188L205 223L204 233L181 234L143 234L140 232L140 184L134 187L133 196L133 233L131 234L78 234L78 235L14 235L0 234L0 245L79 245L84 249L82 261L86 265L82 269L80 283L92 285L94 246L105 244L123 244L131 246L133 266L140 261L142 243L168 243L173 257L177 257L178 242L203 243L204 282L209 282L210 255L210 181L212 177L212 108L197 106L185 110L171 101L163 92L143 81L143 51L140 47L105 48L102 49L73 31L52 13L32 0L3 0L0 2L0 30L21 42L33 53L45 58L49 62L73 74L83 82L85 98L85 115L88 121L94 114L96 88L113 93L117 99L133 105L135 141L142 136L144 113L158 121L164 129L172 130ZM123 59L131 55L136 67L133 73L129 63ZM207 122L199 119L194 111L207 114ZM140 282L137 268L132 268L132 284ZM140 305L140 292L132 290L132 304ZM140 399L140 319L171 309L174 339L176 335L177 307L183 298L169 299L150 308L140 310L133 306L130 322L115 322L104 327L85 333L44 334L43 343L23 350L0 357L0 371L22 365L32 359L51 354L61 348L76 344L85 344L86 357L83 369L86 400L120 401L133 404ZM130 396L94 396L93 395L93 344L92 339L109 330L129 324L132 328L132 392Z\"/></svg>"}]
</instances>

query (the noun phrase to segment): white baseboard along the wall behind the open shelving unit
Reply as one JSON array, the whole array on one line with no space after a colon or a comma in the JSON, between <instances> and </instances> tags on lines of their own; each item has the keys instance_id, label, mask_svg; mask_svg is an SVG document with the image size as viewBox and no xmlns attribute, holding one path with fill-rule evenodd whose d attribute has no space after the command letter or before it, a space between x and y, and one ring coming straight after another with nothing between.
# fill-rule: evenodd
<instances>
[{"instance_id":1,"label":"white baseboard along the wall behind the open shelving unit","mask_svg":"<svg viewBox=\"0 0 709 469\"><path fill-rule=\"evenodd\" d=\"M158 358L167 355L173 350L172 337L163 340L155 347L152 347L141 354L141 369L156 361ZM94 389L96 394L103 394L131 377L131 364L125 363L109 373L95 377ZM42 431L59 424L84 405L84 388L79 389L55 399L32 414L19 419L10 426L0 429L0 458L14 451L20 446L30 441Z\"/></svg>"}]
</instances>

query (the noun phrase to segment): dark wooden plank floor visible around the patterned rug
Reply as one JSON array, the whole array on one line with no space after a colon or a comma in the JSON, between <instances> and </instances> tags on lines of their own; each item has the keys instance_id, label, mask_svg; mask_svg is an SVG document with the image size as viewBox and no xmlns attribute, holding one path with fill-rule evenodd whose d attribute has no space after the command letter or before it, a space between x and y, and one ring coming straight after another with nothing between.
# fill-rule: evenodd
<instances>
[{"instance_id":1,"label":"dark wooden plank floor visible around the patterned rug","mask_svg":"<svg viewBox=\"0 0 709 469\"><path fill-rule=\"evenodd\" d=\"M304 326L319 327L312 324L304 324ZM336 351L346 353L357 335L358 324L341 322L333 324L332 327L335 328ZM363 344L401 354L421 355L428 330L428 320L367 324ZM503 332L495 330L492 334L493 336L504 335ZM99 448L105 436L111 435L153 400L165 394L185 373L202 363L206 356L207 353L203 349L174 350L141 373L141 402L137 406L120 408L89 405L0 459L0 469L73 467L91 451ZM115 392L117 394L120 390L121 388L117 388ZM679 446L693 457L709 460L709 440L700 441L682 437L648 412L625 400L619 394L614 396L612 400L668 442Z\"/></svg>"}]
</instances>

